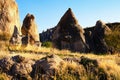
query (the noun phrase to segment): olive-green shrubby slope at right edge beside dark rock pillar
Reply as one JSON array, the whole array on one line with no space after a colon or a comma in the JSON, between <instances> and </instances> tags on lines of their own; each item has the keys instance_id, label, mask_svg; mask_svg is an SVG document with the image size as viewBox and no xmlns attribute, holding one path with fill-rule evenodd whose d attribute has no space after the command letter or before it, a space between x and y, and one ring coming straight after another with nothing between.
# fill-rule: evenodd
<instances>
[{"instance_id":1,"label":"olive-green shrubby slope at right edge beside dark rock pillar","mask_svg":"<svg viewBox=\"0 0 120 80\"><path fill-rule=\"evenodd\" d=\"M107 25L112 32L105 36L105 41L108 46L120 52L120 23L108 23Z\"/></svg>"}]
</instances>

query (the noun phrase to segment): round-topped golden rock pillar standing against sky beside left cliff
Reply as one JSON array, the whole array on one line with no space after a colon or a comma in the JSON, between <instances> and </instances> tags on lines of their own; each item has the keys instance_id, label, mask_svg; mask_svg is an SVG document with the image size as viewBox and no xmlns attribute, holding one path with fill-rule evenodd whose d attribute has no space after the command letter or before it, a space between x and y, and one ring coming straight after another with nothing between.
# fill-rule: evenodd
<instances>
[{"instance_id":1,"label":"round-topped golden rock pillar standing against sky beside left cliff","mask_svg":"<svg viewBox=\"0 0 120 80\"><path fill-rule=\"evenodd\" d=\"M35 17L32 14L27 14L22 25L21 29L22 35L22 44L39 44L39 34L37 31L37 25L35 23Z\"/></svg>"}]
</instances>

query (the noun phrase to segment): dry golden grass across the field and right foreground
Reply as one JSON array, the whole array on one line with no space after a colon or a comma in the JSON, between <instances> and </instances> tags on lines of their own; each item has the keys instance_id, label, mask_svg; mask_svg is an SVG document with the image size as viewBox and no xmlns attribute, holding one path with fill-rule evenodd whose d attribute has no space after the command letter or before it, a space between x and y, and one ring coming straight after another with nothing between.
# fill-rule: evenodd
<instances>
[{"instance_id":1,"label":"dry golden grass across the field and right foreground","mask_svg":"<svg viewBox=\"0 0 120 80\"><path fill-rule=\"evenodd\" d=\"M2 43L2 42L1 42ZM2 43L4 44L4 43ZM8 45L7 45L8 46ZM4 46L5 47L5 46ZM9 51L9 50L11 51ZM61 58L68 58L68 57L75 57L80 58L81 56L87 57L89 59L94 59L98 61L98 66L105 71L107 77L111 80L120 80L120 55L94 55L84 54L84 53L72 53L68 50L59 51L53 48L37 48L37 47L21 47L21 46L11 46L4 48L0 51L0 58L5 56L14 56L14 55L21 55L29 59L39 60L49 54L56 54L59 55ZM70 72L69 72L70 70ZM90 71L86 71L83 65L78 65L74 62L67 62L62 65L62 69L59 71L59 75L55 76L57 80L77 80L80 77L82 80L98 80L99 75L94 75L94 73ZM7 78L5 74L0 75L1 78Z\"/></svg>"}]
</instances>

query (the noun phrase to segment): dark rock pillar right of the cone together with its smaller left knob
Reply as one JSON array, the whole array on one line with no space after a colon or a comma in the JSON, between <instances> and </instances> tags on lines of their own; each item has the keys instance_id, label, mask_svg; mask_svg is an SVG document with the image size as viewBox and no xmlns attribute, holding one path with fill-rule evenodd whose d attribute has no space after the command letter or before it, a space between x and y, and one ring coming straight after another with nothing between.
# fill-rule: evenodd
<instances>
[{"instance_id":1,"label":"dark rock pillar right of the cone together with its smaller left knob","mask_svg":"<svg viewBox=\"0 0 120 80\"><path fill-rule=\"evenodd\" d=\"M110 28L102 21L97 21L94 29L92 31L86 32L86 39L90 50L95 53L107 53L108 46L105 42L105 35L111 33ZM88 38L89 37L89 38Z\"/></svg>"}]
</instances>

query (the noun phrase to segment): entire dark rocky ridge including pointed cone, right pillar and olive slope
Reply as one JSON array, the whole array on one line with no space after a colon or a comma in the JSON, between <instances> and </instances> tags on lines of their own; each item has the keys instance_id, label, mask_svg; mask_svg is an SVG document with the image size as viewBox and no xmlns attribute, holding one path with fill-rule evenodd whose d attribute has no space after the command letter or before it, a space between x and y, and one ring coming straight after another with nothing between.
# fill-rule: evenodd
<instances>
[{"instance_id":1,"label":"entire dark rocky ridge including pointed cone, right pillar and olive slope","mask_svg":"<svg viewBox=\"0 0 120 80\"><path fill-rule=\"evenodd\" d=\"M78 25L72 10L68 9L56 27L40 34L41 41L51 41L54 47L71 51L97 54L112 54L115 51L120 51L120 23L105 24L99 20L95 26L84 30ZM78 40L78 45L74 44L75 40Z\"/></svg>"}]
</instances>

